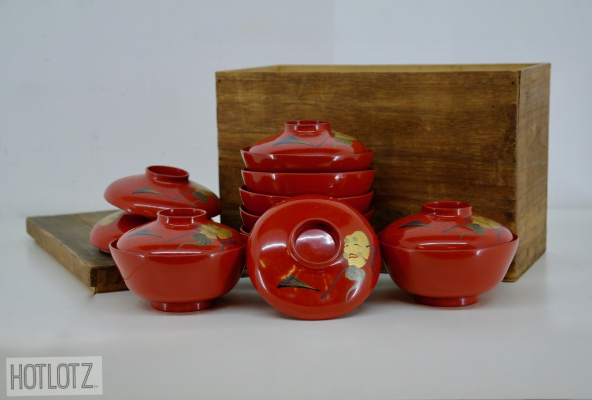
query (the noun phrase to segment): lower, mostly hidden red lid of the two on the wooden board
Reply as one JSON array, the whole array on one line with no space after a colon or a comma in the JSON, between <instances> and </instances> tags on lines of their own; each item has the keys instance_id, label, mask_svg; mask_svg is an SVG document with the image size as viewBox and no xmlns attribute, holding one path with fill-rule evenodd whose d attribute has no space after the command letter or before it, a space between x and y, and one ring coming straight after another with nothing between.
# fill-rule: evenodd
<instances>
[{"instance_id":1,"label":"lower, mostly hidden red lid of the two on the wooden board","mask_svg":"<svg viewBox=\"0 0 592 400\"><path fill-rule=\"evenodd\" d=\"M111 250L109 250L111 241L120 238L121 235L133 228L152 221L150 218L132 212L115 211L96 222L95 226L92 227L89 240L97 249L105 253L111 253Z\"/></svg>"}]
</instances>

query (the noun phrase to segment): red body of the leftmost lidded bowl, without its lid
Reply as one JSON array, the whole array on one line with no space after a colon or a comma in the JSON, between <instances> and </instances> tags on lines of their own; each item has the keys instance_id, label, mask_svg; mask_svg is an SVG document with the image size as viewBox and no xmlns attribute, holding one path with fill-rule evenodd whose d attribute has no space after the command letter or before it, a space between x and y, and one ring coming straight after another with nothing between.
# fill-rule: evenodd
<instances>
[{"instance_id":1,"label":"red body of the leftmost lidded bowl, without its lid","mask_svg":"<svg viewBox=\"0 0 592 400\"><path fill-rule=\"evenodd\" d=\"M214 305L239 282L244 245L206 254L140 254L110 244L111 254L127 287L160 311L199 311Z\"/></svg>"}]
</instances>

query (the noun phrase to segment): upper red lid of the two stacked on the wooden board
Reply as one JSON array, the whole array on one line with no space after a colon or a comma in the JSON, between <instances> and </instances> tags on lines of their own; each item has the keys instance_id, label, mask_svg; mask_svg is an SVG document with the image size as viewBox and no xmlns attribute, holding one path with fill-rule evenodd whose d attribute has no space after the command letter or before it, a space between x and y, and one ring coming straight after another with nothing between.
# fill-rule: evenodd
<instances>
[{"instance_id":1,"label":"upper red lid of the two stacked on the wooden board","mask_svg":"<svg viewBox=\"0 0 592 400\"><path fill-rule=\"evenodd\" d=\"M142 175L115 180L105 189L104 196L115 207L152 219L167 208L200 208L208 218L222 211L218 196L189 180L188 172L162 165L149 166Z\"/></svg>"}]
</instances>

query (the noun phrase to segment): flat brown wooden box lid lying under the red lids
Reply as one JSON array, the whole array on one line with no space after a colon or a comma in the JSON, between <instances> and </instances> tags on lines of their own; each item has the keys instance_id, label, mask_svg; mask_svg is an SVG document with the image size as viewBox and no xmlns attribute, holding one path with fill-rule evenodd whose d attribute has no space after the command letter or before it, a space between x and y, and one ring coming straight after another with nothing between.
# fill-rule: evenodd
<instances>
[{"instance_id":1,"label":"flat brown wooden box lid lying under the red lids","mask_svg":"<svg viewBox=\"0 0 592 400\"><path fill-rule=\"evenodd\" d=\"M109 254L89 242L92 227L111 211L27 218L27 233L96 293L126 290Z\"/></svg>"}]
</instances>

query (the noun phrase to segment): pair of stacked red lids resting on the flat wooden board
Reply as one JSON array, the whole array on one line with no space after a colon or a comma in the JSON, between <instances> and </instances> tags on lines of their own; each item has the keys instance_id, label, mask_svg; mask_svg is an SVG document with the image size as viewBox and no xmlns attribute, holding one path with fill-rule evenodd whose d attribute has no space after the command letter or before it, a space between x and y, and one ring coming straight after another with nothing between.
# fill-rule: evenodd
<instances>
[{"instance_id":1,"label":"pair of stacked red lids resting on the flat wooden board","mask_svg":"<svg viewBox=\"0 0 592 400\"><path fill-rule=\"evenodd\" d=\"M126 176L105 189L105 199L119 210L96 222L90 241L111 253L109 244L127 231L156 220L163 209L189 207L205 211L207 218L220 214L222 203L208 188L189 180L181 168L164 165L146 167L143 174Z\"/></svg>"}]
</instances>

